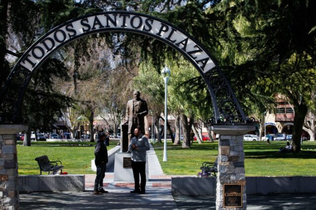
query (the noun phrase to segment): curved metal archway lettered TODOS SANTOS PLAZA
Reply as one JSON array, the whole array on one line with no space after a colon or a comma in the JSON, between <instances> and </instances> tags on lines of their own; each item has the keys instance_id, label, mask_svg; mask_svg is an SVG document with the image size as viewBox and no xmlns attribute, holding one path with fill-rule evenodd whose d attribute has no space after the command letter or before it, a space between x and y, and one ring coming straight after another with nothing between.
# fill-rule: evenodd
<instances>
[{"instance_id":1,"label":"curved metal archway lettered TODOS SANTOS PLAZA","mask_svg":"<svg viewBox=\"0 0 316 210\"><path fill-rule=\"evenodd\" d=\"M184 55L203 77L212 98L211 124L247 123L214 58L192 36L156 17L128 11L100 12L69 20L41 36L18 60L0 90L0 124L22 123L22 101L33 73L52 53L82 36L101 32L148 35Z\"/></svg>"}]
</instances>

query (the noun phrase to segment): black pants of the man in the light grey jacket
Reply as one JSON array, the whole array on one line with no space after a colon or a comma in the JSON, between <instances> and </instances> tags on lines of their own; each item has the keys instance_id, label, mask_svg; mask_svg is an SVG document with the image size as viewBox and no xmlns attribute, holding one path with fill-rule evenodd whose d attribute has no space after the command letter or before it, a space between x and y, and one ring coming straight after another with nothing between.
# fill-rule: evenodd
<instances>
[{"instance_id":1,"label":"black pants of the man in the light grey jacket","mask_svg":"<svg viewBox=\"0 0 316 210\"><path fill-rule=\"evenodd\" d=\"M146 171L145 171L146 162L136 162L132 161L132 170L135 181L135 190L139 190L139 175L141 178L140 190L145 191L146 186Z\"/></svg>"}]
</instances>

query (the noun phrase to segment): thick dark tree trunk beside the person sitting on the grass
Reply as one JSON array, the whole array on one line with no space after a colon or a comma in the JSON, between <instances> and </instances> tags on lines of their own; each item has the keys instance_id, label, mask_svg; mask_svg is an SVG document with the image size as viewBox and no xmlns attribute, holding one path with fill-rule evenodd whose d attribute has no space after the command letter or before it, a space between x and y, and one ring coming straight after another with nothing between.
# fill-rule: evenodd
<instances>
[{"instance_id":1,"label":"thick dark tree trunk beside the person sitting on the grass","mask_svg":"<svg viewBox=\"0 0 316 210\"><path fill-rule=\"evenodd\" d=\"M293 127L293 136L292 136L292 144L293 151L300 152L301 151L301 134L303 130L305 116L307 114L308 108L305 104L304 99L302 103L299 105L294 105L294 127Z\"/></svg>"}]
</instances>

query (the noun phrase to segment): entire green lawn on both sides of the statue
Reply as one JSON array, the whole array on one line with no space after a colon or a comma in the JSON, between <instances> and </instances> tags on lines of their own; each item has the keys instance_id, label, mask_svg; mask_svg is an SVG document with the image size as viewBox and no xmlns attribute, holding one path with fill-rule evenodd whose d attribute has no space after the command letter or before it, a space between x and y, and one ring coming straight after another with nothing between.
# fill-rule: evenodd
<instances>
[{"instance_id":1,"label":"entire green lawn on both sides of the statue","mask_svg":"<svg viewBox=\"0 0 316 210\"><path fill-rule=\"evenodd\" d=\"M111 142L108 150L116 146ZM94 174L91 159L94 145L90 142L32 142L24 147L18 142L18 164L20 175L37 175L39 166L35 158L47 155L50 160L60 160L69 174ZM316 142L304 141L302 152L277 153L284 141L245 141L245 171L247 176L316 175ZM183 149L168 142L168 161L162 161L163 144L154 144L158 160L166 175L197 175L202 162L213 162L218 154L218 142L195 142L191 148Z\"/></svg>"}]
</instances>

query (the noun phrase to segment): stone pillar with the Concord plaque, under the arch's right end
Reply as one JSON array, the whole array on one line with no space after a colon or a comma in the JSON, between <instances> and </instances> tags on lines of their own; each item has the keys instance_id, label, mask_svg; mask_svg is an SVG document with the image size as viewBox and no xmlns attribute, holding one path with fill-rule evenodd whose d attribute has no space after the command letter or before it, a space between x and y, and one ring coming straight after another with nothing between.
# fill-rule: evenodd
<instances>
[{"instance_id":1,"label":"stone pillar with the Concord plaque, under the arch's right end","mask_svg":"<svg viewBox=\"0 0 316 210\"><path fill-rule=\"evenodd\" d=\"M255 130L255 126L253 124L211 125L209 129L221 135L218 146L216 210L246 210L247 197L243 135ZM240 191L241 194L234 194L238 192L240 185L242 189ZM230 193L232 197L229 197L230 194L227 192L224 196L224 187L226 187L226 190L229 190L228 193ZM242 201L240 200L240 206L236 205L236 207L234 207L234 203L239 203L235 202L236 198L237 200L242 198ZM226 203L224 203L224 200Z\"/></svg>"}]
</instances>

